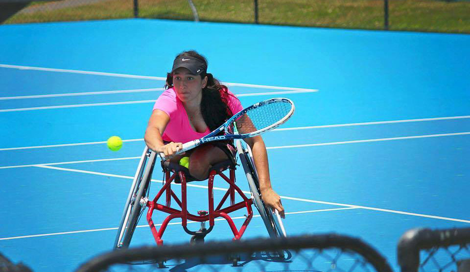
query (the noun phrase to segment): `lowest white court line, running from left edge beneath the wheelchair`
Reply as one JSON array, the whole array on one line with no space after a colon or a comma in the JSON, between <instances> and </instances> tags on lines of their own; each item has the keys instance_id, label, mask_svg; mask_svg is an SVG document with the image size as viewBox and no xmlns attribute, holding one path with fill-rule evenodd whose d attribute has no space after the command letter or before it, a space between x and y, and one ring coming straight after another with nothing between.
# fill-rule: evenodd
<instances>
[{"instance_id":1,"label":"lowest white court line, running from left edge beneath the wheelchair","mask_svg":"<svg viewBox=\"0 0 470 272\"><path fill-rule=\"evenodd\" d=\"M295 211L295 212L286 212L285 214L299 214L299 213L309 213L309 212L322 212L322 211L333 211L333 210L342 210L342 209L355 209L355 208L337 208L337 209L315 209L315 210L305 210L305 211ZM259 215L253 215L253 217L260 217ZM231 217L233 220L236 219L245 219L245 216L238 216L238 217ZM217 218L214 221L223 221L225 218ZM187 221L188 224L191 223L201 223L196 221ZM168 223L168 225L181 225L182 222L172 222ZM162 226L162 224L155 224L156 227ZM139 225L136 228L145 228L148 225ZM32 237L43 237L43 236L52 236L52 235L64 235L64 234L73 234L73 233L83 233L83 232L94 232L94 231L105 231L105 230L118 230L118 228L105 228L105 229L94 229L94 230L75 230L75 231L65 231L65 232L53 232L53 233L45 233L45 234L34 234L34 235L24 235L24 236L15 236L15 237L5 237L0 238L0 240L13 240L13 239L23 239L23 238L32 238Z\"/></svg>"}]
</instances>

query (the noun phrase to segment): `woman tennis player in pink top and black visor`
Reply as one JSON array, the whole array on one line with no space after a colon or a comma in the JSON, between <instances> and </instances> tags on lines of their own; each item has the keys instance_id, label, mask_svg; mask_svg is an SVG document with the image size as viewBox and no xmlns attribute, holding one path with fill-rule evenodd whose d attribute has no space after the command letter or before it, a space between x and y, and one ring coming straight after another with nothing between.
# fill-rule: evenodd
<instances>
[{"instance_id":1,"label":"woman tennis player in pink top and black visor","mask_svg":"<svg viewBox=\"0 0 470 272\"><path fill-rule=\"evenodd\" d=\"M235 113L243 109L240 101L210 73L207 60L196 51L176 56L171 73L167 74L165 91L153 106L145 131L145 143L155 152L178 163L189 157L189 173L195 179L208 178L209 169L228 159L235 163L233 141L216 141L175 155L183 143L211 133ZM284 218L281 198L273 190L269 178L266 146L261 136L245 138L251 147L258 170L259 187L264 203L277 209Z\"/></svg>"}]
</instances>

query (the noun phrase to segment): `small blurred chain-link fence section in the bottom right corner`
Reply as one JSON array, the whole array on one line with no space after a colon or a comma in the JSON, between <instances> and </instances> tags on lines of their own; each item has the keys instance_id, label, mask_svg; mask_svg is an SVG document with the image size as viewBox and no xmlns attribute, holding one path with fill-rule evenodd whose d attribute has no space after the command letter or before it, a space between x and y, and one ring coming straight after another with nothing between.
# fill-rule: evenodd
<instances>
[{"instance_id":1,"label":"small blurred chain-link fence section in the bottom right corner","mask_svg":"<svg viewBox=\"0 0 470 272\"><path fill-rule=\"evenodd\" d=\"M470 272L470 228L409 230L398 258L401 272Z\"/></svg>"}]
</instances>

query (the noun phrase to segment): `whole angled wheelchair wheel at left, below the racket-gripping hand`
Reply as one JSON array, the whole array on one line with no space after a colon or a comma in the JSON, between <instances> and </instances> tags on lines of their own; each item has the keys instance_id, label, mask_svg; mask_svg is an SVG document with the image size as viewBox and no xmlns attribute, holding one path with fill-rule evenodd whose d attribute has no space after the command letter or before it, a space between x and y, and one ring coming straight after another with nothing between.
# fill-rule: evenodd
<instances>
[{"instance_id":1,"label":"whole angled wheelchair wheel at left, below the racket-gripping hand","mask_svg":"<svg viewBox=\"0 0 470 272\"><path fill-rule=\"evenodd\" d=\"M123 218L118 228L116 236L115 249L128 248L131 243L132 235L137 227L146 204L146 194L152 179L152 171L155 165L156 153L146 148L139 168L136 173L136 179L131 187L130 195L126 201Z\"/></svg>"}]
</instances>

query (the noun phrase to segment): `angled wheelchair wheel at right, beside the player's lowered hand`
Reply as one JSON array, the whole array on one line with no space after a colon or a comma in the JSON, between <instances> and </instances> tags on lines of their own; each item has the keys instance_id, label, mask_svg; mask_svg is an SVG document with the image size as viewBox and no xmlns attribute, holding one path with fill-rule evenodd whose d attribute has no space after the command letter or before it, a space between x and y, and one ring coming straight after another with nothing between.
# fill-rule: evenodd
<instances>
[{"instance_id":1,"label":"angled wheelchair wheel at right, beside the player's lowered hand","mask_svg":"<svg viewBox=\"0 0 470 272\"><path fill-rule=\"evenodd\" d=\"M238 151L238 156L240 157L240 162L248 180L248 185L250 186L253 204L258 209L259 215L261 216L264 225L266 226L266 230L268 231L269 236L272 238L285 237L286 233L279 213L277 213L277 211L272 212L269 207L264 204L261 198L258 174L250 147L246 146L245 148L241 141L238 140L236 141L236 148Z\"/></svg>"}]
</instances>

